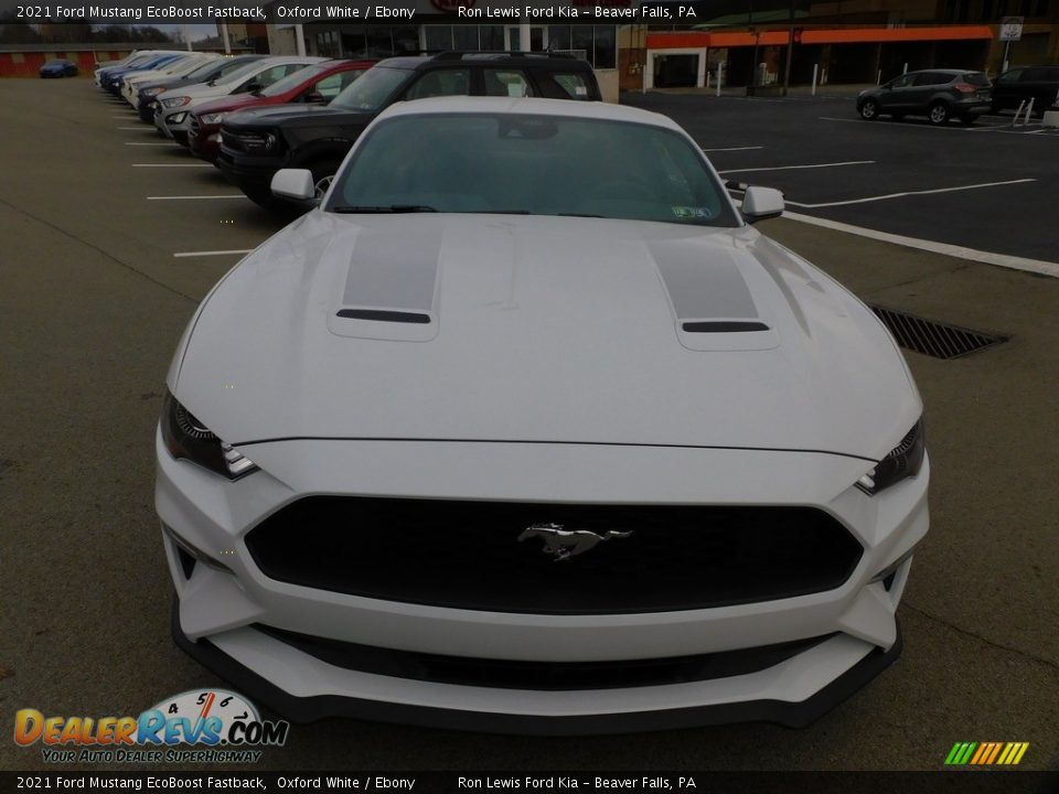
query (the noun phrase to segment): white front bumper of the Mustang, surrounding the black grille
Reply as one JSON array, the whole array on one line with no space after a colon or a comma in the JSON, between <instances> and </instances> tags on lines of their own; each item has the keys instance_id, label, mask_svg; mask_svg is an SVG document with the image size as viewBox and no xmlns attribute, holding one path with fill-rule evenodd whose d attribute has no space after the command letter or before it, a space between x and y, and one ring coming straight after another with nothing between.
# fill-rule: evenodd
<instances>
[{"instance_id":1,"label":"white front bumper of the Mustang, surrounding the black grille","mask_svg":"<svg viewBox=\"0 0 1059 794\"><path fill-rule=\"evenodd\" d=\"M281 444L289 446L285 451L290 460L321 464L309 478L313 487L296 483L298 478L290 470L269 465L269 455ZM229 483L173 460L159 441L156 502L178 593L174 637L205 666L292 719L351 716L524 733L605 733L756 720L796 727L864 686L900 652L895 613L910 559L885 581L878 575L906 558L927 532L929 462L918 478L867 497L852 486L834 491L822 485L814 492L813 483L833 483L836 475L848 482L856 474L848 472L848 460L821 454L800 454L802 465L792 466L789 458L768 453L653 450L642 452L646 458L639 465L629 466L627 461L616 466L616 455L625 451L542 449L533 452L538 460L527 461L531 455L525 450L494 447L472 455L488 461L484 468L453 471L458 468L451 460L458 452L452 448L461 444L426 444L409 450L404 462L397 460L403 453L391 449L384 454L381 446L261 444L246 453L263 471ZM753 486L727 480L726 460L732 463L731 471L747 471L747 464L752 464L760 474ZM439 478L446 461L449 470ZM376 600L280 582L260 571L244 541L260 521L291 502L311 493L350 493L351 482L367 494L397 495L393 491L399 484L404 493L439 497L442 486L437 481L443 479L450 495L468 498L483 497L481 490L488 491L490 481L498 487L517 482L522 492L510 493L511 498L545 501L544 486L536 483L547 478L536 475L536 470L559 466L614 473L592 480L596 490L582 498L593 503L651 501L643 471L675 473L676 479L665 483L668 498L675 502L686 500L682 494L693 490L705 491L702 500L707 503L721 501L718 494L725 492L729 498L746 500L747 493L785 480L779 487L787 493L771 496L830 512L865 551L845 583L807 596L657 613L516 614ZM704 470L717 476L704 483ZM515 480L513 471L525 476ZM689 472L684 481L680 480L683 472ZM803 500L794 498L799 492ZM555 493L553 498L569 496ZM204 560L192 567L190 576L181 546ZM391 674L385 666L338 663L284 641L276 630L353 644L368 654L425 654L461 664L482 661L486 666L490 661L545 667L625 662L635 666L645 661L645 652L648 662L654 663L821 641L764 668L650 685L554 690Z\"/></svg>"}]
</instances>

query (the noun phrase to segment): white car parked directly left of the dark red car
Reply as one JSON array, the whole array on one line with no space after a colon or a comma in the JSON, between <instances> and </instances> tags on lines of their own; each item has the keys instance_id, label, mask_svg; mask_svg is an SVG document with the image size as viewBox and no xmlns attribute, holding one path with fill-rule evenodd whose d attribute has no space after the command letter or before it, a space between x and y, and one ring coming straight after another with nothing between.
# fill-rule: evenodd
<instances>
[{"instance_id":1,"label":"white car parked directly left of the dark red car","mask_svg":"<svg viewBox=\"0 0 1059 794\"><path fill-rule=\"evenodd\" d=\"M191 110L211 99L233 94L248 94L267 88L287 75L306 66L327 61L306 55L278 55L255 61L233 72L222 81L208 85L172 88L158 95L154 106L154 125L167 138L188 146L191 130Z\"/></svg>"}]
</instances>

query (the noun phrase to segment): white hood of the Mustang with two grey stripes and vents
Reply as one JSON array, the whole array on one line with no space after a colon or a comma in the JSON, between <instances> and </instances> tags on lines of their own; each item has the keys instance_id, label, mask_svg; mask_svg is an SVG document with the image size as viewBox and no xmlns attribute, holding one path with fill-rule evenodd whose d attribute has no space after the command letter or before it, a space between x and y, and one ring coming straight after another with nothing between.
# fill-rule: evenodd
<instances>
[{"instance_id":1,"label":"white hood of the Mustang with two grey stripes and vents","mask_svg":"<svg viewBox=\"0 0 1059 794\"><path fill-rule=\"evenodd\" d=\"M685 330L694 322L707 330ZM735 322L764 330L714 324ZM207 297L169 386L233 444L576 441L878 460L921 411L874 314L755 229L549 216L313 211Z\"/></svg>"}]
</instances>

